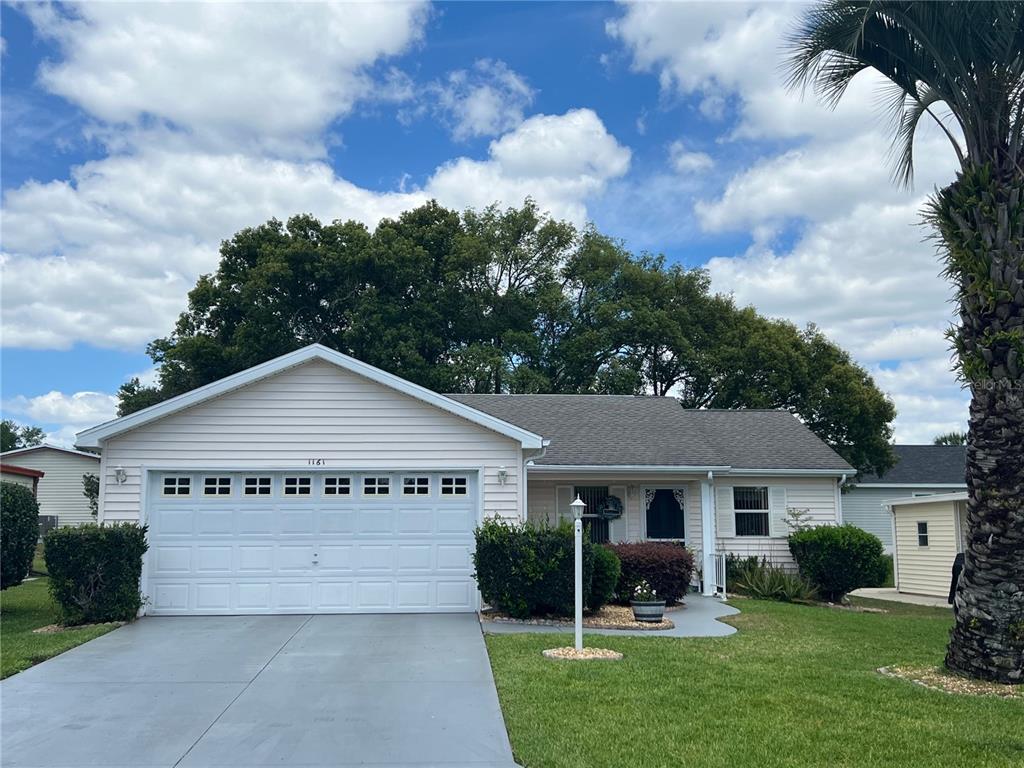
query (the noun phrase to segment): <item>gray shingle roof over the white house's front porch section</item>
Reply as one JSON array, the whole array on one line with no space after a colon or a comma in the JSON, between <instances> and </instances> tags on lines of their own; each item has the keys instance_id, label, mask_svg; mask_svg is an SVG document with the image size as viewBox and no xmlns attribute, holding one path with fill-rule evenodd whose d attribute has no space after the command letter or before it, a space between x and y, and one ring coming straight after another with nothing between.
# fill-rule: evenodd
<instances>
[{"instance_id":1,"label":"gray shingle roof over the white house's front porch section","mask_svg":"<svg viewBox=\"0 0 1024 768\"><path fill-rule=\"evenodd\" d=\"M540 465L853 471L784 411L688 411L632 395L447 396L550 439Z\"/></svg>"}]
</instances>

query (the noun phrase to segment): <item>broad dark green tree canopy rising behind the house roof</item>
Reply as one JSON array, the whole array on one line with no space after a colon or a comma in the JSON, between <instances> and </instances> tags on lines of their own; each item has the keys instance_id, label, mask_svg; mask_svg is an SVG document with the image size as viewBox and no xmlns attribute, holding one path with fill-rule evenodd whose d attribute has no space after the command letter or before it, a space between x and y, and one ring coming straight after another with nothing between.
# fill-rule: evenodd
<instances>
[{"instance_id":1,"label":"broad dark green tree canopy rising behind the house roof","mask_svg":"<svg viewBox=\"0 0 1024 768\"><path fill-rule=\"evenodd\" d=\"M431 202L374 231L270 220L220 254L148 346L158 385L125 384L122 415L318 342L440 392L786 409L858 469L893 462L892 402L816 328L738 307L706 271L634 255L529 200L462 214Z\"/></svg>"}]
</instances>

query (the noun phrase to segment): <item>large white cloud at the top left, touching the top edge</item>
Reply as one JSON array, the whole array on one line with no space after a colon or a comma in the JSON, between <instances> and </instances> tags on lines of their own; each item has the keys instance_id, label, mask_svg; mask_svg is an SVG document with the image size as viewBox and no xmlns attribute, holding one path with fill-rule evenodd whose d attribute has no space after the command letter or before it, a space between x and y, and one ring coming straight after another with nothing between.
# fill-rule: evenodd
<instances>
[{"instance_id":1,"label":"large white cloud at the top left, touching the top edge","mask_svg":"<svg viewBox=\"0 0 1024 768\"><path fill-rule=\"evenodd\" d=\"M370 69L415 44L423 3L29 5L62 56L52 93L106 125L166 122L196 145L315 155L322 131L374 95Z\"/></svg>"}]
</instances>

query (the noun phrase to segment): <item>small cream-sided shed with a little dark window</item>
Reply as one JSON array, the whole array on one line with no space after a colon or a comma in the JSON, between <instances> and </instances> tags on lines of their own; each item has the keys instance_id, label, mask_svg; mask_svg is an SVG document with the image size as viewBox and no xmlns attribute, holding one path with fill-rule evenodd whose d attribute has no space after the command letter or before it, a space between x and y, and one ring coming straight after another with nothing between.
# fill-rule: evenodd
<instances>
[{"instance_id":1,"label":"small cream-sided shed with a little dark window","mask_svg":"<svg viewBox=\"0 0 1024 768\"><path fill-rule=\"evenodd\" d=\"M896 589L947 597L953 560L967 537L967 492L889 503L895 537Z\"/></svg>"}]
</instances>

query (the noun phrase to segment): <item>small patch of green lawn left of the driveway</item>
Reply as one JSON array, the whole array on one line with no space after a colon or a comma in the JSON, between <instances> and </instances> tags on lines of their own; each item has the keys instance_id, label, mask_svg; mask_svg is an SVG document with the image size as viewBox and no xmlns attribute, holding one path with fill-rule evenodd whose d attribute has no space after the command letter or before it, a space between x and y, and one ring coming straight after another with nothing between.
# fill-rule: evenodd
<instances>
[{"instance_id":1,"label":"small patch of green lawn left of the driveway","mask_svg":"<svg viewBox=\"0 0 1024 768\"><path fill-rule=\"evenodd\" d=\"M57 609L47 592L46 579L26 582L0 593L0 678L104 635L115 627L86 627L52 635L32 633L56 621Z\"/></svg>"}]
</instances>

